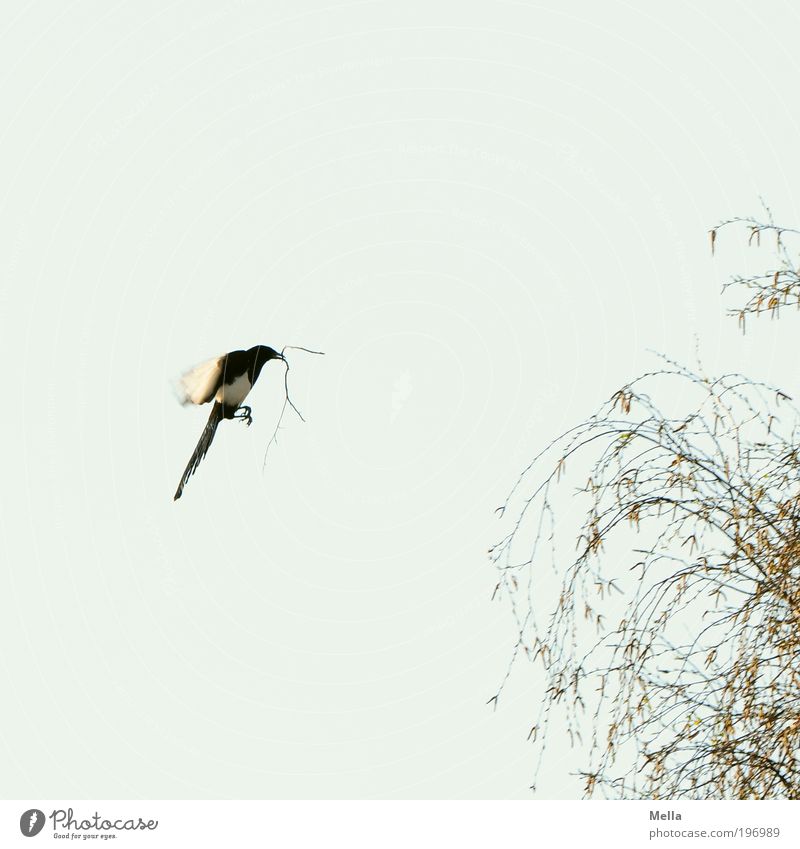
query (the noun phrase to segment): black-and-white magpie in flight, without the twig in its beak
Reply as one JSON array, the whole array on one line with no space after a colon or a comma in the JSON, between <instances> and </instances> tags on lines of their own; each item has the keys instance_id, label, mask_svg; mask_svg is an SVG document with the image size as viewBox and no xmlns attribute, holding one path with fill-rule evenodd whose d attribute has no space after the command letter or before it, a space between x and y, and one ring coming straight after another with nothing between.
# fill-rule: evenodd
<instances>
[{"instance_id":1,"label":"black-and-white magpie in flight, without the twig in its beak","mask_svg":"<svg viewBox=\"0 0 800 849\"><path fill-rule=\"evenodd\" d=\"M217 427L223 419L241 419L248 427L253 423L252 410L242 406L242 401L258 380L264 363L270 360L286 362L283 354L279 354L269 345L256 345L247 351L231 351L229 354L215 357L183 375L180 381L181 403L206 404L213 399L214 406L194 454L181 477L173 501L183 495L183 488L208 453Z\"/></svg>"}]
</instances>

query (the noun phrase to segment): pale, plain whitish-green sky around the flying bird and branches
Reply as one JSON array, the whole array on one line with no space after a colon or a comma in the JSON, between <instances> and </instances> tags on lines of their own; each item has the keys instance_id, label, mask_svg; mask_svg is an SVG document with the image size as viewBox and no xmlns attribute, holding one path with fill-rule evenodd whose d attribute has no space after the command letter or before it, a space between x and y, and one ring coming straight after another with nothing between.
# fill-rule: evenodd
<instances>
[{"instance_id":1,"label":"pale, plain whitish-green sky around the flying bird and branches","mask_svg":"<svg viewBox=\"0 0 800 849\"><path fill-rule=\"evenodd\" d=\"M800 225L798 23L5 3L0 795L530 798L493 510L648 349L797 397L800 317L742 338L755 249L707 231ZM257 343L326 352L307 423L262 473L268 365L173 503L208 408L171 381ZM579 795L552 753L538 795Z\"/></svg>"}]
</instances>

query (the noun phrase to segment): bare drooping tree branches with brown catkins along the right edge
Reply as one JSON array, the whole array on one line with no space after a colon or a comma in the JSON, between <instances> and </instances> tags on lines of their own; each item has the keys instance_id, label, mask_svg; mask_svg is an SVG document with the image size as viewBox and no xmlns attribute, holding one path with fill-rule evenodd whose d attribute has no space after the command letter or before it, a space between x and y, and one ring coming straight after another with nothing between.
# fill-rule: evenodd
<instances>
[{"instance_id":1,"label":"bare drooping tree branches with brown catkins along the right edge","mask_svg":"<svg viewBox=\"0 0 800 849\"><path fill-rule=\"evenodd\" d=\"M753 290L740 320L800 304L789 231L744 221L777 234L781 265L732 281ZM513 519L490 556L518 639L494 700L520 659L541 665L538 762L558 716L587 796L800 798L799 426L778 389L664 359L499 508Z\"/></svg>"}]
</instances>

